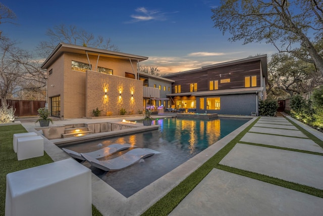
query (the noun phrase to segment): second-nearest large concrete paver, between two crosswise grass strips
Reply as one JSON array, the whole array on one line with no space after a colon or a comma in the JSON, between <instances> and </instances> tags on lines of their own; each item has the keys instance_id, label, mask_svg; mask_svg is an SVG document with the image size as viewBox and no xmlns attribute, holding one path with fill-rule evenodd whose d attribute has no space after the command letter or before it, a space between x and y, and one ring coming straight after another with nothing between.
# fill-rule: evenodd
<instances>
[{"instance_id":1,"label":"second-nearest large concrete paver, between two crosswise grass strips","mask_svg":"<svg viewBox=\"0 0 323 216\"><path fill-rule=\"evenodd\" d=\"M323 189L323 156L236 144L220 164Z\"/></svg>"}]
</instances>

